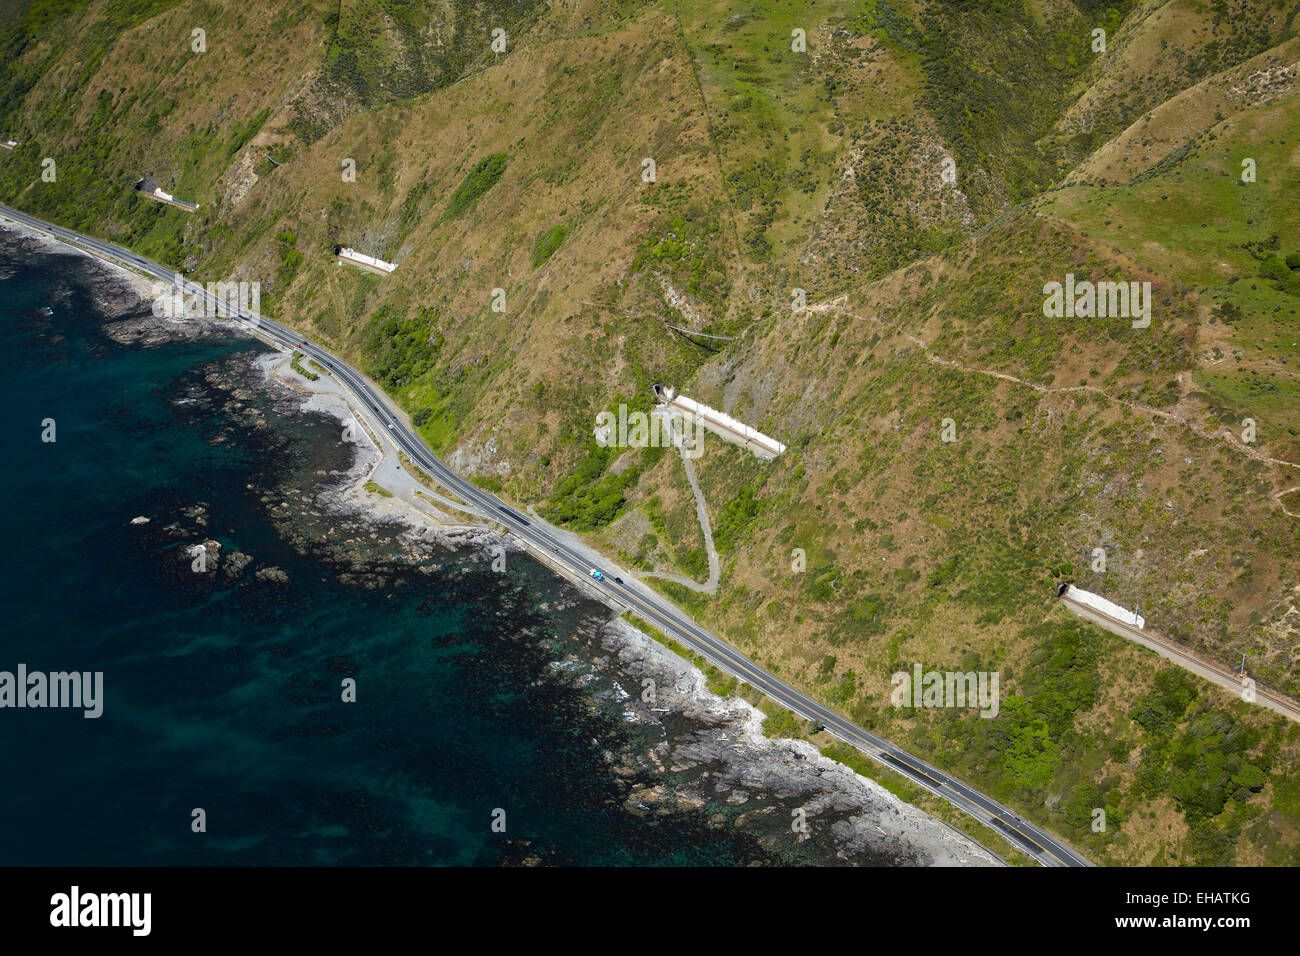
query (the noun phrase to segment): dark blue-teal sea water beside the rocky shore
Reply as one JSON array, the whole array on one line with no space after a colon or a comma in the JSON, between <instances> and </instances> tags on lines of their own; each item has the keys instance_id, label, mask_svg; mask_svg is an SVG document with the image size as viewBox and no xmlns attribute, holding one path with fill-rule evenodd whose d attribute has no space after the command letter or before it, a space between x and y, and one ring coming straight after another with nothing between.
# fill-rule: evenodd
<instances>
[{"instance_id":1,"label":"dark blue-teal sea water beside the rocky shore","mask_svg":"<svg viewBox=\"0 0 1300 956\"><path fill-rule=\"evenodd\" d=\"M0 709L0 865L768 860L624 808L602 754L637 731L550 666L601 609L538 610L560 585L524 558L498 575L447 551L422 574L384 537L347 561L309 546L321 519L291 496L347 467L338 424L231 406L209 377L256 343L113 342L91 268L0 254L0 670L105 684L99 719ZM254 408L265 428L240 425ZM181 549L205 537L252 564L190 572Z\"/></svg>"}]
</instances>

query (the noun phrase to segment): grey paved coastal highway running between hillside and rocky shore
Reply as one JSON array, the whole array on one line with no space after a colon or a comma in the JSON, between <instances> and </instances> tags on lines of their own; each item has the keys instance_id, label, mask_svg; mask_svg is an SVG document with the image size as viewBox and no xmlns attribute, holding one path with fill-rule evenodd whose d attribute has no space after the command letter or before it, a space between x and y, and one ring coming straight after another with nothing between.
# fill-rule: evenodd
<instances>
[{"instance_id":1,"label":"grey paved coastal highway running between hillside and rocky shore","mask_svg":"<svg viewBox=\"0 0 1300 956\"><path fill-rule=\"evenodd\" d=\"M203 302L213 307L220 302L202 286L181 280L170 269L152 263L121 246L61 229L5 206L0 206L0 215L55 235L65 242L82 246L96 255L153 276L169 285L181 281L186 293L202 297ZM547 525L529 520L495 496L477 488L443 464L429 450L420 436L406 424L404 418L398 415L395 406L391 405L378 386L373 385L360 372L325 349L308 342L299 333L276 321L247 312L238 303L222 303L222 306L228 310L224 312L225 315L237 316L259 338L286 350L300 347L304 355L324 365L337 381L347 386L355 399L356 411L370 420L376 432L387 432L393 444L402 449L407 458L419 464L434 481L459 496L465 503L478 507L484 514L495 515L497 520L516 537L543 554L551 563L585 578L588 587L602 593L614 604L629 609L642 620L699 653L715 666L753 684L777 704L789 708L800 717L816 721L831 734L858 748L872 760L879 761L930 792L948 800L982 823L993 827L1009 843L1035 857L1039 862L1046 866L1091 865L1078 852L1027 819L1011 813L994 800L911 756L906 750L894 747L888 740L868 734L794 688L781 683L744 654L699 627L681 609L658 592L637 584L615 581L611 574L604 574L604 579L599 581L592 579L589 576L589 558L569 548L563 537L552 533Z\"/></svg>"}]
</instances>

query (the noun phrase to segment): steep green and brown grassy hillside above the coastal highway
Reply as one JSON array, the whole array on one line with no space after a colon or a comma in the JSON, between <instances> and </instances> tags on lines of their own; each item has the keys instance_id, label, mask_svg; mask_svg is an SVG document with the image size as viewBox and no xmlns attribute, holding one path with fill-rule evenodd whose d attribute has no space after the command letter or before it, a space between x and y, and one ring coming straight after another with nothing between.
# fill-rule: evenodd
<instances>
[{"instance_id":1,"label":"steep green and brown grassy hillside above the coastal highway","mask_svg":"<svg viewBox=\"0 0 1300 956\"><path fill-rule=\"evenodd\" d=\"M1300 731L1053 601L1300 696L1291 0L5 7L4 202L260 282L458 468L1095 858L1300 862ZM1050 315L1067 276L1149 325ZM693 463L714 593L681 459L593 440L656 381L789 446ZM1000 715L890 706L914 663Z\"/></svg>"}]
</instances>

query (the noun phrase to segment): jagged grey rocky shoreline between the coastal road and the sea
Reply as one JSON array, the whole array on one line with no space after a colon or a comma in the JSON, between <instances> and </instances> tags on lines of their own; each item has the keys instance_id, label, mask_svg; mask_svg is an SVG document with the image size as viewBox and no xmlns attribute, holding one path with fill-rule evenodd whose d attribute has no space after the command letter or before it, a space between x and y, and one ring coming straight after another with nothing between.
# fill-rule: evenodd
<instances>
[{"instance_id":1,"label":"jagged grey rocky shoreline between the coastal road and the sea","mask_svg":"<svg viewBox=\"0 0 1300 956\"><path fill-rule=\"evenodd\" d=\"M5 229L10 224L4 224ZM70 251L30 234L0 232L10 258ZM52 243L52 246L46 245ZM117 342L160 345L177 338L230 336L220 320L170 320L150 307L152 284L129 271L88 259L94 294L110 316ZM341 429L351 419L346 397L308 382L278 352L242 352L202 367L198 380L173 397L176 410L207 429L212 444L255 433L281 449L270 416L329 416ZM521 550L488 523L454 512L425 493L374 436L355 425L328 460L292 463L272 488L251 488L276 531L295 550L320 557L338 579L370 591L400 588L411 575L464 575L473 564ZM385 494L367 485L385 489ZM242 597L291 604L292 580L280 567L240 550L224 550L204 502L177 499L155 514L125 515L139 544L159 554L160 570L198 594L237 589ZM469 545L467 549L465 545ZM498 550L499 549L499 550ZM624 810L649 819L684 814L710 827L744 832L775 861L868 865L998 865L985 848L893 796L880 784L823 757L805 741L772 740L762 713L738 698L714 695L705 675L640 630L611 618L602 605L537 566L540 610L563 617L556 674L592 695L628 728L606 752L624 783ZM646 696L645 688L654 688ZM630 689L629 689L630 688ZM598 741L593 740L593 744ZM792 821L806 825L797 827ZM524 851L517 862L541 862Z\"/></svg>"}]
</instances>

